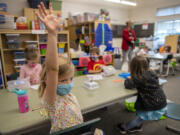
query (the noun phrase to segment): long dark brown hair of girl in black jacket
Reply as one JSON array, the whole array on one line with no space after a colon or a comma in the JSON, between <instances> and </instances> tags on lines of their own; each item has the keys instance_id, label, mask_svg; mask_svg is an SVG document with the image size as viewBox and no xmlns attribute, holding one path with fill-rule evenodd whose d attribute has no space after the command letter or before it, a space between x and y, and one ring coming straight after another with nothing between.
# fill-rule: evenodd
<instances>
[{"instance_id":1,"label":"long dark brown hair of girl in black jacket","mask_svg":"<svg viewBox=\"0 0 180 135\"><path fill-rule=\"evenodd\" d=\"M130 63L130 72L131 77L143 77L145 74L145 71L148 71L149 69L149 62L148 60L143 56L135 56L131 63Z\"/></svg>"}]
</instances>

